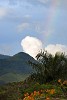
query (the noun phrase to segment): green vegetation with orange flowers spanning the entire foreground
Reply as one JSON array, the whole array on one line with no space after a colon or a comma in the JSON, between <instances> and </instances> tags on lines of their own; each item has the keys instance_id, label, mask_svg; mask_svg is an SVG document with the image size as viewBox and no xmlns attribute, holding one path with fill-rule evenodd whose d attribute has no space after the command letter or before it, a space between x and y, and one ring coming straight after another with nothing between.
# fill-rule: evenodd
<instances>
[{"instance_id":1,"label":"green vegetation with orange flowers spanning the entire foreground","mask_svg":"<svg viewBox=\"0 0 67 100\"><path fill-rule=\"evenodd\" d=\"M52 82L53 83L53 82ZM47 99L49 98L49 99ZM67 100L67 84L13 82L0 87L0 100Z\"/></svg>"}]
</instances>

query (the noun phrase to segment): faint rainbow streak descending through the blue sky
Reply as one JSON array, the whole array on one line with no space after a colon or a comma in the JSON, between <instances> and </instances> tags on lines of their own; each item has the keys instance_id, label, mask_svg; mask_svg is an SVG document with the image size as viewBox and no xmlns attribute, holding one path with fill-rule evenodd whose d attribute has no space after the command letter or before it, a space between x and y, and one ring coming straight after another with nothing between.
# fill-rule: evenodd
<instances>
[{"instance_id":1,"label":"faint rainbow streak descending through the blue sky","mask_svg":"<svg viewBox=\"0 0 67 100\"><path fill-rule=\"evenodd\" d=\"M58 14L60 13L58 10L58 5L59 6L61 5L61 1L62 0L51 0L51 9L49 9L49 14L47 17L47 25L45 29L46 32L45 34L47 37L49 37L49 35L54 31L53 24L56 21Z\"/></svg>"}]
</instances>

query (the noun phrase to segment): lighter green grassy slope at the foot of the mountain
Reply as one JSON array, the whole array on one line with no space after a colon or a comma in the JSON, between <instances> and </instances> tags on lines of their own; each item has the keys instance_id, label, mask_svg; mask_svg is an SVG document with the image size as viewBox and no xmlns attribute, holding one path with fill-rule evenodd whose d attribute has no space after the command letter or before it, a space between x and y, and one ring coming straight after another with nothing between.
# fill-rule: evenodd
<instances>
[{"instance_id":1,"label":"lighter green grassy slope at the foot of the mountain","mask_svg":"<svg viewBox=\"0 0 67 100\"><path fill-rule=\"evenodd\" d=\"M4 83L19 82L25 80L28 76L29 74L7 73L0 76L0 81Z\"/></svg>"}]
</instances>

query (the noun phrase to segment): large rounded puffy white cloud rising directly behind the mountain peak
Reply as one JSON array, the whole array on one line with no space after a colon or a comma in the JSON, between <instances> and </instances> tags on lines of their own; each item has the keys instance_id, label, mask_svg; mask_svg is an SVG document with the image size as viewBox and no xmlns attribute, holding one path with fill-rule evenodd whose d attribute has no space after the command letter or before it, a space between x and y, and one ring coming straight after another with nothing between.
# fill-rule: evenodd
<instances>
[{"instance_id":1,"label":"large rounded puffy white cloud rising directly behind the mountain peak","mask_svg":"<svg viewBox=\"0 0 67 100\"><path fill-rule=\"evenodd\" d=\"M42 42L39 39L30 36L26 36L21 41L21 46L24 52L28 53L34 58L38 54L38 52L43 48Z\"/></svg>"}]
</instances>

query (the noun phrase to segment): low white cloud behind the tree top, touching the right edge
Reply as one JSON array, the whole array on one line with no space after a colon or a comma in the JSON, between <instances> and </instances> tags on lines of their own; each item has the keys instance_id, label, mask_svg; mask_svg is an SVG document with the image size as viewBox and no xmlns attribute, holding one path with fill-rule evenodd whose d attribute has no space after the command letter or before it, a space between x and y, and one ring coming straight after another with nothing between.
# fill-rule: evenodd
<instances>
[{"instance_id":1,"label":"low white cloud behind the tree top, touching the right edge","mask_svg":"<svg viewBox=\"0 0 67 100\"><path fill-rule=\"evenodd\" d=\"M67 55L67 46L61 45L61 44L50 44L45 47L45 50L47 50L49 53L55 55L56 52L63 52Z\"/></svg>"}]
</instances>

